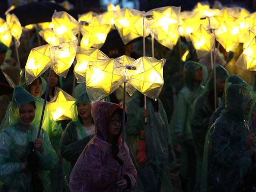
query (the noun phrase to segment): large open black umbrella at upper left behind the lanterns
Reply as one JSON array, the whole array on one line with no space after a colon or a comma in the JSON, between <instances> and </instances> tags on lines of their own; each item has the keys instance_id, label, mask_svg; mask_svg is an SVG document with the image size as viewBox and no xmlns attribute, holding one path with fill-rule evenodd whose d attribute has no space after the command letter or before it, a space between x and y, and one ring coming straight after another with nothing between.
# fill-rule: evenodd
<instances>
[{"instance_id":1,"label":"large open black umbrella at upper left behind the lanterns","mask_svg":"<svg viewBox=\"0 0 256 192\"><path fill-rule=\"evenodd\" d=\"M66 9L59 4L42 1L18 6L11 10L10 14L14 13L20 20L20 24L26 26L35 23L51 22L54 10L66 11Z\"/></svg>"}]
</instances>

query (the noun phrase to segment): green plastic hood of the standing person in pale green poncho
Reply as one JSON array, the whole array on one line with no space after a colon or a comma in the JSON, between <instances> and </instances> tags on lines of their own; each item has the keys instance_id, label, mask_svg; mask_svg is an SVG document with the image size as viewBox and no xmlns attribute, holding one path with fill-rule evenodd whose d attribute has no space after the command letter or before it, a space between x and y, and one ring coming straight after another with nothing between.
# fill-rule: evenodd
<instances>
[{"instance_id":1,"label":"green plastic hood of the standing person in pale green poncho","mask_svg":"<svg viewBox=\"0 0 256 192\"><path fill-rule=\"evenodd\" d=\"M192 88L193 80L194 80L194 75L197 70L202 68L203 70L203 77L202 81L200 82L200 85L204 84L206 82L207 76L208 76L208 71L205 66L203 66L200 63L194 62L194 61L187 61L184 65L184 84L188 86L189 88Z\"/></svg>"}]
</instances>

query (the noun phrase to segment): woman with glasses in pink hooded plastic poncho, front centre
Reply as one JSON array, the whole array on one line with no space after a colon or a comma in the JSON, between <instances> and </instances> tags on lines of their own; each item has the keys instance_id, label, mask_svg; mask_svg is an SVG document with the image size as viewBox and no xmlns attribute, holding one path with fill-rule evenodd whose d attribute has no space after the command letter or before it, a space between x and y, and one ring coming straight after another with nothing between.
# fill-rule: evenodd
<instances>
[{"instance_id":1,"label":"woman with glasses in pink hooded plastic poncho, front centre","mask_svg":"<svg viewBox=\"0 0 256 192\"><path fill-rule=\"evenodd\" d=\"M137 172L126 143L122 146L122 105L92 104L96 135L88 142L71 174L71 192L119 192L136 188ZM124 180L121 170L124 166Z\"/></svg>"}]
</instances>

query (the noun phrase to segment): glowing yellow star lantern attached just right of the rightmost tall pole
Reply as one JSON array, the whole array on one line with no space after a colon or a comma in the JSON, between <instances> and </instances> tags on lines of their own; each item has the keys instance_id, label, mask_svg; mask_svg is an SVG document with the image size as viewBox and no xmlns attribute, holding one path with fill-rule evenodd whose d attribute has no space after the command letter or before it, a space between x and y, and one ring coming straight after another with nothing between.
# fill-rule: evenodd
<instances>
[{"instance_id":1,"label":"glowing yellow star lantern attached just right of the rightmost tall pole","mask_svg":"<svg viewBox=\"0 0 256 192\"><path fill-rule=\"evenodd\" d=\"M223 22L215 31L216 40L229 51L235 51L239 45L239 27L235 22Z\"/></svg>"}]
</instances>

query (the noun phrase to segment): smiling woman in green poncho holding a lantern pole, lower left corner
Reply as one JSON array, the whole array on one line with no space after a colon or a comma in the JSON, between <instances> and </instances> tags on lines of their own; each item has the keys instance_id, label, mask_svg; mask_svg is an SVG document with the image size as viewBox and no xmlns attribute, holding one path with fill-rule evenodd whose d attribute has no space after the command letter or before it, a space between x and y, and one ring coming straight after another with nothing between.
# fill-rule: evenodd
<instances>
[{"instance_id":1,"label":"smiling woman in green poncho holding a lantern pole, lower left corner","mask_svg":"<svg viewBox=\"0 0 256 192\"><path fill-rule=\"evenodd\" d=\"M51 191L46 170L56 165L57 157L48 135L33 124L40 101L24 88L14 88L10 106L11 124L0 134L1 191Z\"/></svg>"}]
</instances>

